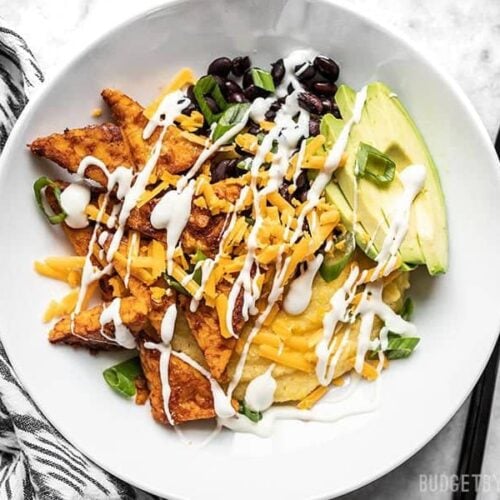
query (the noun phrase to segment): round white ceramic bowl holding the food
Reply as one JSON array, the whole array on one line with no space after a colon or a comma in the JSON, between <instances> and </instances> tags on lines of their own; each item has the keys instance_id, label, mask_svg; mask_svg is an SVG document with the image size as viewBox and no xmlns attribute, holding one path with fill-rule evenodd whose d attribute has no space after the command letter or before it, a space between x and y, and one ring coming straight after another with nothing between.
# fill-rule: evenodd
<instances>
[{"instance_id":1,"label":"round white ceramic bowl holding the food","mask_svg":"<svg viewBox=\"0 0 500 500\"><path fill-rule=\"evenodd\" d=\"M380 404L335 424L283 423L272 439L224 433L198 450L115 396L101 371L116 355L53 347L41 323L64 287L36 276L35 259L67 246L38 212L32 184L42 162L25 144L91 121L103 87L148 102L181 66L202 73L215 56L250 54L267 65L298 47L341 63L359 88L387 82L408 106L440 168L450 271L415 279L418 351L384 373ZM388 472L421 448L472 389L500 327L499 165L466 97L408 43L323 1L189 0L112 30L87 47L28 106L0 166L0 329L27 390L92 460L169 499L331 498Z\"/></svg>"}]
</instances>

